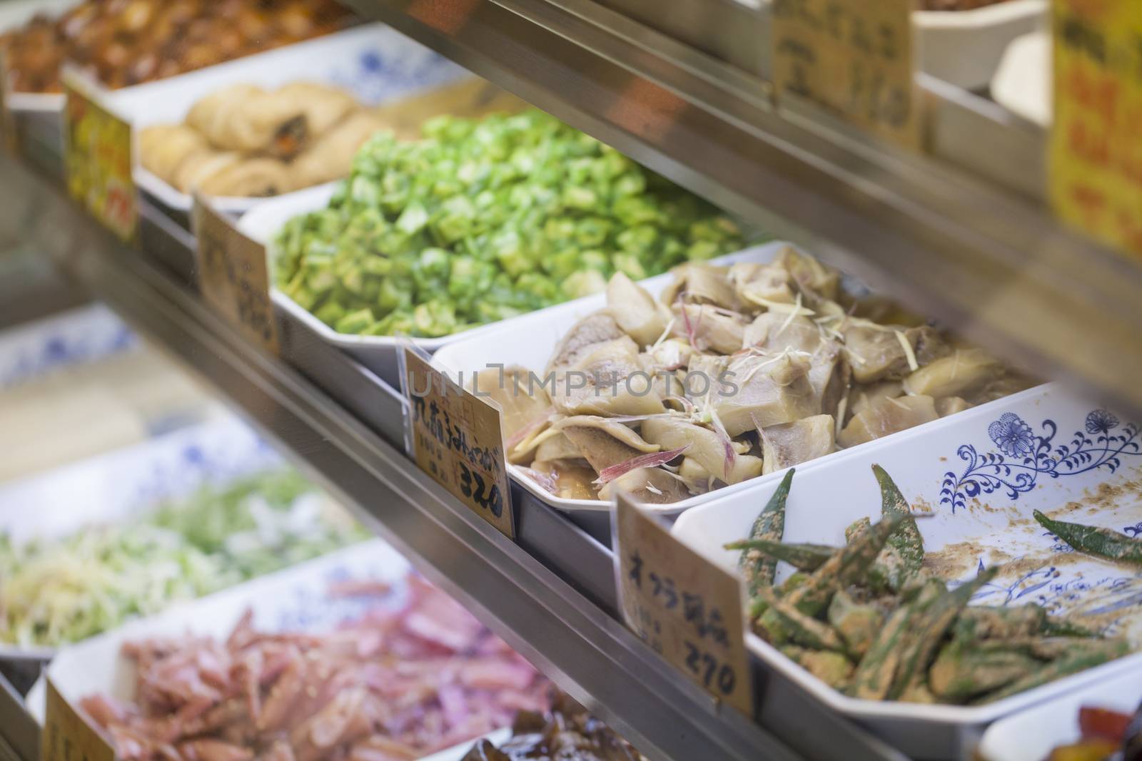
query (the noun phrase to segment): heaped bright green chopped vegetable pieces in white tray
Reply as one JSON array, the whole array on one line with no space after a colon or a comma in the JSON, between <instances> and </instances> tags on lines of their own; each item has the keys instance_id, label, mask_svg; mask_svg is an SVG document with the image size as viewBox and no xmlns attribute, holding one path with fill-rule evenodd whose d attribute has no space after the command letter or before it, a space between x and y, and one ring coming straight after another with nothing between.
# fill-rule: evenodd
<instances>
[{"instance_id":1,"label":"heaped bright green chopped vegetable pieces in white tray","mask_svg":"<svg viewBox=\"0 0 1142 761\"><path fill-rule=\"evenodd\" d=\"M376 135L276 281L340 333L440 337L742 245L717 209L539 111Z\"/></svg>"}]
</instances>

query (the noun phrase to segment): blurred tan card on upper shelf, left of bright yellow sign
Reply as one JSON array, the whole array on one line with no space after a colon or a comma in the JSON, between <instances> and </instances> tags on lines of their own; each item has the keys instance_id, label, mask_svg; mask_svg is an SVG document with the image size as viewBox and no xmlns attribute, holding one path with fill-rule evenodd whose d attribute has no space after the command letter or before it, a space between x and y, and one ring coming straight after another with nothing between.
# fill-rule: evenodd
<instances>
[{"instance_id":1,"label":"blurred tan card on upper shelf, left of bright yellow sign","mask_svg":"<svg viewBox=\"0 0 1142 761\"><path fill-rule=\"evenodd\" d=\"M773 0L773 86L918 146L915 0Z\"/></svg>"}]
</instances>

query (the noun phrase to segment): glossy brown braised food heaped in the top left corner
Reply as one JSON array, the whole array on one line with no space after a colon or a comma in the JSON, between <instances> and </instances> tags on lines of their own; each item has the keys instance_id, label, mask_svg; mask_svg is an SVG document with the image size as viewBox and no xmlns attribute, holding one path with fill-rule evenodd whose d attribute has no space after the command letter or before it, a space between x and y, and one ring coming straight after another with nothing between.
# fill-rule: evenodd
<instances>
[{"instance_id":1,"label":"glossy brown braised food heaped in the top left corner","mask_svg":"<svg viewBox=\"0 0 1142 761\"><path fill-rule=\"evenodd\" d=\"M139 84L333 32L333 0L86 0L0 37L14 92L59 92L73 60L111 88Z\"/></svg>"}]
</instances>

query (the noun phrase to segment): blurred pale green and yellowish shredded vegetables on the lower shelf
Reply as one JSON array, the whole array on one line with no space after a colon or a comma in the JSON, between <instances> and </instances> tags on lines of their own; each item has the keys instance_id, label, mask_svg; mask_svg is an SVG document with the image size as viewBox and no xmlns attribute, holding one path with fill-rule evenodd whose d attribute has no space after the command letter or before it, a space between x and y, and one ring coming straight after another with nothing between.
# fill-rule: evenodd
<instances>
[{"instance_id":1,"label":"blurred pale green and yellowish shredded vegetables on the lower shelf","mask_svg":"<svg viewBox=\"0 0 1142 761\"><path fill-rule=\"evenodd\" d=\"M367 536L292 470L203 486L132 525L0 534L0 642L74 642Z\"/></svg>"}]
</instances>

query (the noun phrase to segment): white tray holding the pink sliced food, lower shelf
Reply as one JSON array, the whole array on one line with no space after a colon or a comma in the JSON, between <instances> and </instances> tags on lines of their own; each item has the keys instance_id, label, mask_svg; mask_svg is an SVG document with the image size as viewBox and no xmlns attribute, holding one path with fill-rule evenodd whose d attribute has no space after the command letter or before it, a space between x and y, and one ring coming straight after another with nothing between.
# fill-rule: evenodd
<instances>
[{"instance_id":1,"label":"white tray holding the pink sliced food, lower shelf","mask_svg":"<svg viewBox=\"0 0 1142 761\"><path fill-rule=\"evenodd\" d=\"M386 582L395 591L391 604L399 605L402 581L410 572L408 561L395 549L381 540L372 540L69 646L59 651L46 673L72 705L96 693L131 699L134 667L120 655L124 642L188 632L225 639L247 609L254 612L254 625L260 630L329 631L376 606L375 600L331 599L328 596L330 583L345 580ZM40 724L43 723L45 690L41 678L27 695L27 709ZM502 742L506 735L500 730L488 737ZM425 761L458 761L476 739L427 756Z\"/></svg>"}]
</instances>

